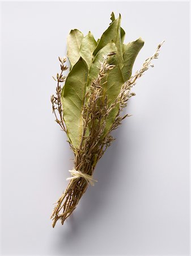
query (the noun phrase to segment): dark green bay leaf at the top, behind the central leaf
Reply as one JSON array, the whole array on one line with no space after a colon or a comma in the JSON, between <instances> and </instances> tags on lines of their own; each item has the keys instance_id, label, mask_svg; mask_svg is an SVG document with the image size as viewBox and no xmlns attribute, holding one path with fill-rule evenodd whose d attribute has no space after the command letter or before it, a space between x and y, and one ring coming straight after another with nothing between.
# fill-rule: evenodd
<instances>
[{"instance_id":1,"label":"dark green bay leaf at the top, behind the central leaf","mask_svg":"<svg viewBox=\"0 0 191 256\"><path fill-rule=\"evenodd\" d=\"M103 33L101 36L99 43L97 44L97 47L94 51L94 56L97 54L97 52L100 51L101 48L106 46L109 42L113 40L113 42L116 44L117 52L118 52L118 59L120 63L120 67L123 65L123 59L122 59L122 45L121 45L121 15L118 17L118 19L114 20L111 25L108 27L107 30Z\"/></svg>"}]
</instances>

